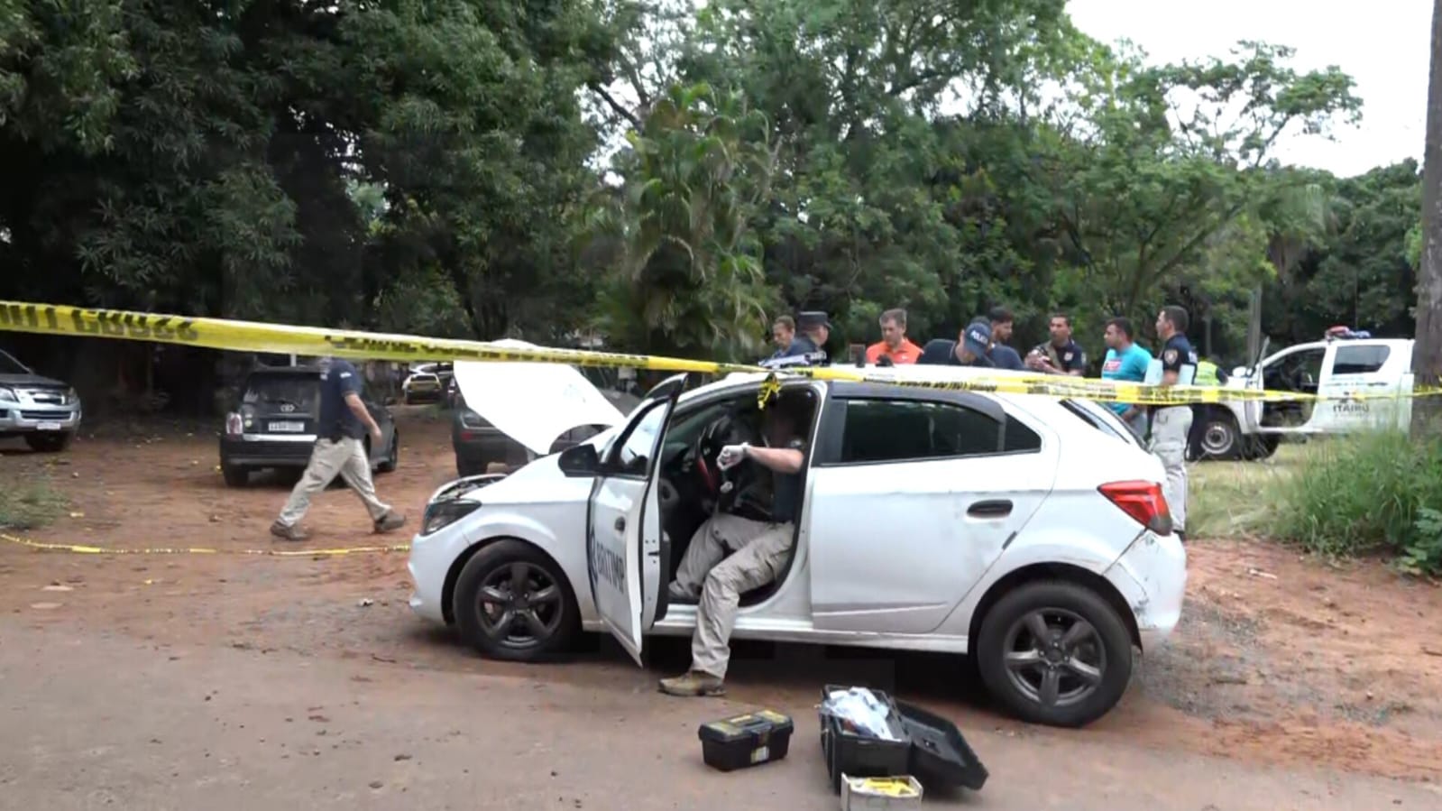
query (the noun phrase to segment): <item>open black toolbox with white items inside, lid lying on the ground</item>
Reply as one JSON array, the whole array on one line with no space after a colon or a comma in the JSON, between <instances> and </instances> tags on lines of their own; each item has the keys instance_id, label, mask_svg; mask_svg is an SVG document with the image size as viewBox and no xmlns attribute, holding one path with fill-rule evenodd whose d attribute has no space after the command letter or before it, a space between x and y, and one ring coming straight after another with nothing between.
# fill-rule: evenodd
<instances>
[{"instance_id":1,"label":"open black toolbox with white items inside, lid lying on the ground","mask_svg":"<svg viewBox=\"0 0 1442 811\"><path fill-rule=\"evenodd\" d=\"M849 687L828 684L822 701L833 691ZM891 732L900 740L884 740L848 732L841 722L820 714L820 750L832 791L841 791L841 775L888 778L911 775L923 784L953 785L979 791L988 778L986 766L966 743L955 723L881 690L871 690L891 706Z\"/></svg>"}]
</instances>

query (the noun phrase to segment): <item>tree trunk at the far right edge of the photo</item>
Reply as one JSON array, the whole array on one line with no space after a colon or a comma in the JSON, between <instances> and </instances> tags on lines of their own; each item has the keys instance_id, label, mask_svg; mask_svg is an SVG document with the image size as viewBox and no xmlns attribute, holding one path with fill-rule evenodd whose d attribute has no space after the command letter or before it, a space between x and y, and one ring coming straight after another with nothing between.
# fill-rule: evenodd
<instances>
[{"instance_id":1,"label":"tree trunk at the far right edge of the photo","mask_svg":"<svg viewBox=\"0 0 1442 811\"><path fill-rule=\"evenodd\" d=\"M1422 160L1422 268L1417 274L1417 343L1412 352L1412 372L1416 387L1430 387L1438 385L1442 375L1442 0L1432 3L1432 76ZM1442 400L1413 400L1413 436L1438 430L1439 416Z\"/></svg>"}]
</instances>

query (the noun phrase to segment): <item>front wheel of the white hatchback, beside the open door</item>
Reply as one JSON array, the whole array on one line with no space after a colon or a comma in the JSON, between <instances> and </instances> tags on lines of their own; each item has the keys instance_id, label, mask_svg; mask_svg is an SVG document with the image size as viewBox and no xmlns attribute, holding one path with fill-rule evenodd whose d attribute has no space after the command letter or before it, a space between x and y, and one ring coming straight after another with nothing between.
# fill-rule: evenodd
<instances>
[{"instance_id":1,"label":"front wheel of the white hatchback, beside the open door","mask_svg":"<svg viewBox=\"0 0 1442 811\"><path fill-rule=\"evenodd\" d=\"M526 589L535 586L535 592L522 592L531 595L531 600L513 600L519 573L523 573L521 580ZM551 599L535 602L535 595L548 589L554 589ZM487 603L482 602L483 595L489 595ZM528 605L531 608L525 608ZM523 541L496 541L473 554L456 580L451 610L466 642L486 658L513 662L545 661L564 654L580 626L571 583L549 557ZM544 634L538 625L528 625L523 610L532 612ZM502 626L508 612L513 618Z\"/></svg>"}]
</instances>

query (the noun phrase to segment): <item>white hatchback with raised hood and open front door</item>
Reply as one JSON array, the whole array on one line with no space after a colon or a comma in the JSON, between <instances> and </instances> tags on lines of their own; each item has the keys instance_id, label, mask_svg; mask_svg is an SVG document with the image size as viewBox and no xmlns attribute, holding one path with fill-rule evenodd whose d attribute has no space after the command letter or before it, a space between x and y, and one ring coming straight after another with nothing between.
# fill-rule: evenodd
<instances>
[{"instance_id":1,"label":"white hatchback with raised hood and open front door","mask_svg":"<svg viewBox=\"0 0 1442 811\"><path fill-rule=\"evenodd\" d=\"M678 375L583 444L440 488L411 608L505 659L606 628L640 662L646 635L691 635L695 605L666 584L728 498L715 453L757 436L764 380ZM735 638L969 654L1014 714L1082 726L1120 700L1133 646L1177 625L1162 466L1105 406L813 380L777 403L809 417L796 543L743 595Z\"/></svg>"}]
</instances>

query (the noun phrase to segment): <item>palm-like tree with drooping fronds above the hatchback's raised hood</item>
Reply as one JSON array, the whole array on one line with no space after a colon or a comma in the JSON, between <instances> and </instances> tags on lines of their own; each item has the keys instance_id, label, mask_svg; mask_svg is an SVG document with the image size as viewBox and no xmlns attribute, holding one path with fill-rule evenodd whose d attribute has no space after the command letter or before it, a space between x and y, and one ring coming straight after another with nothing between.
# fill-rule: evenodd
<instances>
[{"instance_id":1,"label":"palm-like tree with drooping fronds above the hatchback's raised hood","mask_svg":"<svg viewBox=\"0 0 1442 811\"><path fill-rule=\"evenodd\" d=\"M603 218L622 242L601 293L607 335L652 354L760 349L773 299L751 221L770 190L769 134L740 94L672 85L655 100Z\"/></svg>"}]
</instances>

